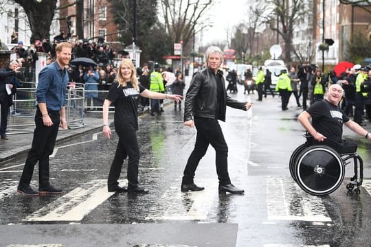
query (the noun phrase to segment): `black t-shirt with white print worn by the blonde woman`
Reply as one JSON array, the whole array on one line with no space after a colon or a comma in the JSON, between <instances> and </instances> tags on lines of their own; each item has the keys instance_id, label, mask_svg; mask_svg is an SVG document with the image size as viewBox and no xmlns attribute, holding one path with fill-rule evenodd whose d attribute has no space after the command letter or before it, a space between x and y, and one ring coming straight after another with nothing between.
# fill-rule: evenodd
<instances>
[{"instance_id":1,"label":"black t-shirt with white print worn by the blonde woman","mask_svg":"<svg viewBox=\"0 0 371 247\"><path fill-rule=\"evenodd\" d=\"M114 82L109 89L106 99L115 104L115 130L116 132L138 130L138 101L139 93L146 90L139 84L139 89L134 89L131 82L126 86L117 87Z\"/></svg>"}]
</instances>

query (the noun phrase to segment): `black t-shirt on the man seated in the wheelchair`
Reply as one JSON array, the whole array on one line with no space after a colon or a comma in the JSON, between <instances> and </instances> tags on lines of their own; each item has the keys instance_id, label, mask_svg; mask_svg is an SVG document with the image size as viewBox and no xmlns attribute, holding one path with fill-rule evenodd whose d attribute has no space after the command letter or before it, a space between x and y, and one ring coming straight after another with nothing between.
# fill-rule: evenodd
<instances>
[{"instance_id":1,"label":"black t-shirt on the man seated in the wheelchair","mask_svg":"<svg viewBox=\"0 0 371 247\"><path fill-rule=\"evenodd\" d=\"M339 106L334 106L326 99L315 102L306 109L312 117L312 126L315 130L323 134L327 139L341 142L343 134L343 123L349 121L349 118Z\"/></svg>"}]
</instances>

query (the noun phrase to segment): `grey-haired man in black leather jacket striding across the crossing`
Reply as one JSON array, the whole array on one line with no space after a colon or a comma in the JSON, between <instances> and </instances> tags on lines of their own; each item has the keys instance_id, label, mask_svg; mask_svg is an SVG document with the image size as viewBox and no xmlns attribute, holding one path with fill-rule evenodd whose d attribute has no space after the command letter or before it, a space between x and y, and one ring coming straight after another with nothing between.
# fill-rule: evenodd
<instances>
[{"instance_id":1,"label":"grey-haired man in black leather jacket striding across the crossing","mask_svg":"<svg viewBox=\"0 0 371 247\"><path fill-rule=\"evenodd\" d=\"M209 144L216 152L216 172L219 191L244 193L232 185L228 174L227 154L221 126L218 120L225 121L226 106L248 110L251 103L238 102L227 95L223 73L218 70L223 62L223 51L209 47L205 51L207 68L194 73L187 91L184 110L184 125L197 129L196 144L183 172L181 191L201 191L204 188L194 184L194 173L199 161L206 154ZM193 117L193 118L192 118Z\"/></svg>"}]
</instances>

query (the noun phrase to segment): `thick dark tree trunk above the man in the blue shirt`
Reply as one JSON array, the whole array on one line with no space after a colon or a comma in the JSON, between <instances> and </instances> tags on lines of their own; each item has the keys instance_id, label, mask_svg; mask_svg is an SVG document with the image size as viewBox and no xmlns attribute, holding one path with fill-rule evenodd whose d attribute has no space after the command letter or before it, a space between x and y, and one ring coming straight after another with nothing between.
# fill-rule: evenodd
<instances>
[{"instance_id":1,"label":"thick dark tree trunk above the man in the blue shirt","mask_svg":"<svg viewBox=\"0 0 371 247\"><path fill-rule=\"evenodd\" d=\"M14 1L21 5L23 10L25 10L25 14L27 14L32 32L30 43L34 43L34 40L37 39L49 38L50 25L54 18L57 0L44 0L40 3L30 0Z\"/></svg>"}]
</instances>

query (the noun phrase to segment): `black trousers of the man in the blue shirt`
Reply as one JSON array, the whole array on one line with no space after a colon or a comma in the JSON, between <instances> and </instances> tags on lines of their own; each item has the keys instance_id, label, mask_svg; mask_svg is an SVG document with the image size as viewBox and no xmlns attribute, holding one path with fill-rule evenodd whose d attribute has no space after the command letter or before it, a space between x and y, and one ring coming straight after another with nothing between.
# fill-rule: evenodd
<instances>
[{"instance_id":1,"label":"black trousers of the man in the blue shirt","mask_svg":"<svg viewBox=\"0 0 371 247\"><path fill-rule=\"evenodd\" d=\"M48 113L53 121L52 126L45 126L43 123L43 116L41 111L37 108L35 115L34 139L32 140L32 147L28 152L25 167L19 185L26 187L30 185L34 167L38 162L38 187L49 186L49 155L53 153L54 145L56 144L56 137L58 135L58 128L60 123L59 111L49 110Z\"/></svg>"}]
</instances>

